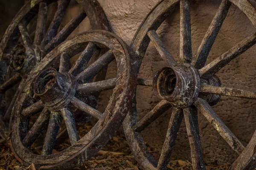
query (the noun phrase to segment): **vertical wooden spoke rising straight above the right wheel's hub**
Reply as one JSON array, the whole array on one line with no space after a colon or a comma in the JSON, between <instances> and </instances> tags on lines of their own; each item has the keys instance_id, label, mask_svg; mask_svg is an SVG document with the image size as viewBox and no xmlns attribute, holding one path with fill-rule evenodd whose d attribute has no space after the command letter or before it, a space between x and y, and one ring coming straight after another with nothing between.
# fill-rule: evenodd
<instances>
[{"instance_id":1,"label":"vertical wooden spoke rising straight above the right wheel's hub","mask_svg":"<svg viewBox=\"0 0 256 170\"><path fill-rule=\"evenodd\" d=\"M192 61L189 0L180 0L180 60L185 63Z\"/></svg>"}]
</instances>

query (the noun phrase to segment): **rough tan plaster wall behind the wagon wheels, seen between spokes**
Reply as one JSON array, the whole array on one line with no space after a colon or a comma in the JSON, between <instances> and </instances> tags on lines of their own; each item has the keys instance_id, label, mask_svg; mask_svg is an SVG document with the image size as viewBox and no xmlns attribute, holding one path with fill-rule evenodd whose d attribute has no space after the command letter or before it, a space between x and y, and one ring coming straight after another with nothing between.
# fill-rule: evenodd
<instances>
[{"instance_id":1,"label":"rough tan plaster wall behind the wagon wheels, seen between spokes","mask_svg":"<svg viewBox=\"0 0 256 170\"><path fill-rule=\"evenodd\" d=\"M138 26L143 21L148 12L158 3L159 0L99 0L111 26L112 31L130 44ZM191 2L191 24L192 24L192 50L195 54L201 40L215 12L220 4L219 0L193 0ZM67 15L63 20L63 26L71 18L78 14L80 7L71 5ZM178 59L179 55L179 9L166 20L158 29L158 34L165 42L171 54ZM88 19L80 24L72 35L90 29L87 26ZM245 37L253 34L253 28L247 17L236 6L231 6L227 18L218 34L217 40L209 54L208 63L216 57L232 48L236 43ZM246 90L256 90L255 65L256 46L253 46L244 54L239 56L230 64L223 68L217 75L220 77L222 85L227 87L243 88ZM153 45L150 44L145 54L139 77L152 78L156 71L165 66ZM108 78L115 77L115 63L111 63L108 68ZM106 92L104 95L110 95ZM103 110L108 102L105 96L101 96L99 109ZM137 108L139 117L143 117L159 102L154 96L151 88L139 87L137 91ZM249 99L239 99L234 97L221 97L221 102L213 107L214 111L221 117L233 133L246 145L254 130L256 129L256 102ZM167 125L171 111L164 113L159 119L153 122L143 131L145 141L154 148L160 150L165 139ZM199 124L201 130L201 142L204 158L207 163L231 163L237 157L229 145L221 138L217 131L199 113ZM154 137L152 137L154 136ZM189 141L186 136L184 122L178 133L175 149L172 153L174 159L190 159Z\"/></svg>"}]
</instances>

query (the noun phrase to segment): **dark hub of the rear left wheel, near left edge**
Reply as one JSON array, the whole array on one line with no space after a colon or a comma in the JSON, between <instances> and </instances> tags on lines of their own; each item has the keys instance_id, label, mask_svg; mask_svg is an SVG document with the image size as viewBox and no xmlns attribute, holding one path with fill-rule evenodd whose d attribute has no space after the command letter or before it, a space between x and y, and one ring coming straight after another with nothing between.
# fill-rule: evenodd
<instances>
[{"instance_id":1,"label":"dark hub of the rear left wheel, near left edge","mask_svg":"<svg viewBox=\"0 0 256 170\"><path fill-rule=\"evenodd\" d=\"M26 75L41 60L42 54L43 51L38 45L28 47L18 44L11 52L9 66L26 78Z\"/></svg>"}]
</instances>

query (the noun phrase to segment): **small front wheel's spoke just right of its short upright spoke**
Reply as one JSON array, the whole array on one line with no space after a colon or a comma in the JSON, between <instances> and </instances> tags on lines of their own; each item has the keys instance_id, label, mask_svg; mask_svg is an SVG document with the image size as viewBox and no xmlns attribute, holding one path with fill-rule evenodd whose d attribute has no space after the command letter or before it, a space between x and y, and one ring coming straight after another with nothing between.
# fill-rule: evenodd
<instances>
[{"instance_id":1,"label":"small front wheel's spoke just right of its short upright spoke","mask_svg":"<svg viewBox=\"0 0 256 170\"><path fill-rule=\"evenodd\" d=\"M87 47L84 49L84 51L81 53L79 58L76 60L73 67L70 69L69 73L73 74L73 76L77 76L79 73L81 73L86 67L87 63L89 62L90 58L93 56L93 53L97 49L97 45L95 45L93 42L89 42Z\"/></svg>"}]
</instances>

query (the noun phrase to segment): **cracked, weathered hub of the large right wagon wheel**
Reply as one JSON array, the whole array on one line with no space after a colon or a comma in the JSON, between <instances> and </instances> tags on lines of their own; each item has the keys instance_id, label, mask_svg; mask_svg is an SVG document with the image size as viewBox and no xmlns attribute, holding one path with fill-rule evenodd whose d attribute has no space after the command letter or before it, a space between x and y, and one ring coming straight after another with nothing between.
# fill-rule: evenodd
<instances>
[{"instance_id":1,"label":"cracked, weathered hub of the large right wagon wheel","mask_svg":"<svg viewBox=\"0 0 256 170\"><path fill-rule=\"evenodd\" d=\"M221 86L217 76L209 80L200 79L198 71L190 64L180 64L175 67L164 67L157 71L153 79L154 94L160 99L166 99L172 105L186 108L195 102L199 96L200 85ZM201 95L211 105L218 103L220 95Z\"/></svg>"}]
</instances>

